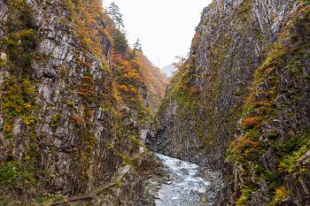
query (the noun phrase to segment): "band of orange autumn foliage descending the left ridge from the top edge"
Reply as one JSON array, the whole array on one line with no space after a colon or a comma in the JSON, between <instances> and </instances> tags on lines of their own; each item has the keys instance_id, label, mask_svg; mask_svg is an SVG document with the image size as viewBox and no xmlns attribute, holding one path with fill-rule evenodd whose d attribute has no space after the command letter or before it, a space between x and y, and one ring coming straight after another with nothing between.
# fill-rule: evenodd
<instances>
[{"instance_id":1,"label":"band of orange autumn foliage descending the left ridge from the top edge","mask_svg":"<svg viewBox=\"0 0 310 206\"><path fill-rule=\"evenodd\" d=\"M136 111L141 118L151 117L164 98L167 77L143 56L141 50L134 51L128 46L125 32L104 12L100 0L66 0L63 4L71 13L70 24L81 45L91 50L103 60L104 65L112 69L116 77L112 91L114 98ZM103 55L103 42L100 38L102 35L112 43L112 66ZM85 91L80 92L81 95L88 94Z\"/></svg>"}]
</instances>

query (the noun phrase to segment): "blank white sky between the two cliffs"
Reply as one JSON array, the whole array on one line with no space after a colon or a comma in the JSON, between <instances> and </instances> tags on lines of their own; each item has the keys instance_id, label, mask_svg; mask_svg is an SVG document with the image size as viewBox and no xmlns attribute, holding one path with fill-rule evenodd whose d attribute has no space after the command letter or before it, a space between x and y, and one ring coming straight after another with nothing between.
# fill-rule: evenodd
<instances>
[{"instance_id":1,"label":"blank white sky between the two cliffs","mask_svg":"<svg viewBox=\"0 0 310 206\"><path fill-rule=\"evenodd\" d=\"M103 0L105 8L113 0ZM143 53L164 67L185 57L201 11L212 0L114 0L124 15L130 44L140 38Z\"/></svg>"}]
</instances>

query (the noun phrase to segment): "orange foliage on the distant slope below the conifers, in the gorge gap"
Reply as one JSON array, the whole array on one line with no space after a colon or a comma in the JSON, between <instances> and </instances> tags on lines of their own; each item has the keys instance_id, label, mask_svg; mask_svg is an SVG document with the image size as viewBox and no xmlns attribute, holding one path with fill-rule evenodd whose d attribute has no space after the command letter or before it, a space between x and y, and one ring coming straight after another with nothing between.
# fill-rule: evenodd
<instances>
[{"instance_id":1,"label":"orange foliage on the distant slope below the conifers, in the gorge gap","mask_svg":"<svg viewBox=\"0 0 310 206\"><path fill-rule=\"evenodd\" d=\"M120 96L125 103L143 105L142 95L147 91L147 98L155 104L152 104L152 110L155 111L164 98L169 80L141 52L135 58L131 58L130 52L129 49L125 57L116 52L112 54Z\"/></svg>"}]
</instances>

